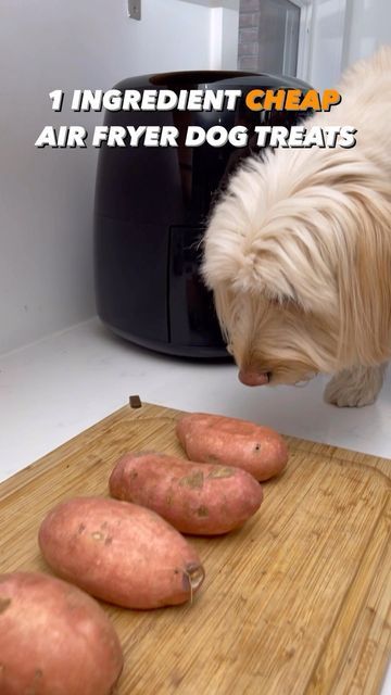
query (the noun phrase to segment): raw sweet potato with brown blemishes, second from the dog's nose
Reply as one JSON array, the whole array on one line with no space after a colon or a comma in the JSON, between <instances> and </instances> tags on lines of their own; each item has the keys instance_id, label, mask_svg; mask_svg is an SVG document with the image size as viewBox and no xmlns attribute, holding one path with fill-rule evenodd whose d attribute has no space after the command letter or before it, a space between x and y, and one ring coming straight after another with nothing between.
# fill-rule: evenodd
<instances>
[{"instance_id":1,"label":"raw sweet potato with brown blemishes, second from the dog's nose","mask_svg":"<svg viewBox=\"0 0 391 695\"><path fill-rule=\"evenodd\" d=\"M157 452L125 454L109 481L117 500L141 504L160 514L178 531L227 533L260 508L260 483L232 466L194 464Z\"/></svg>"}]
</instances>

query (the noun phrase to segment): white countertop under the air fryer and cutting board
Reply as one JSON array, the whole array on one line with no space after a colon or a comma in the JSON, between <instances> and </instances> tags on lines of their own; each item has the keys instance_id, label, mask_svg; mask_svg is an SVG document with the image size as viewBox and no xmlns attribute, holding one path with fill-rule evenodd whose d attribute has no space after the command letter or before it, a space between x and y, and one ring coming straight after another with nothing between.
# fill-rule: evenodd
<instances>
[{"instance_id":1,"label":"white countertop under the air fryer and cutting board","mask_svg":"<svg viewBox=\"0 0 391 695\"><path fill-rule=\"evenodd\" d=\"M391 374L377 403L365 408L324 403L326 382L318 377L304 388L249 389L232 364L160 355L91 319L0 356L0 480L136 393L142 401L252 419L281 433L391 458ZM382 695L391 695L391 669Z\"/></svg>"}]
</instances>

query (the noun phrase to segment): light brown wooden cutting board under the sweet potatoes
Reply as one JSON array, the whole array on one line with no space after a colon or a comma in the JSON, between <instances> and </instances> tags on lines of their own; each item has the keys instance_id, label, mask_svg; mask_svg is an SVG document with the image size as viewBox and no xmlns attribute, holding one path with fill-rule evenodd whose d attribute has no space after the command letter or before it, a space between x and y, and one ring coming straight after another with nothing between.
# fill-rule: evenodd
<instances>
[{"instance_id":1,"label":"light brown wooden cutting board under the sweet potatoes","mask_svg":"<svg viewBox=\"0 0 391 695\"><path fill-rule=\"evenodd\" d=\"M179 413L121 408L0 485L0 571L50 572L37 531L75 495L108 495L130 450L181 454ZM192 605L102 604L119 634L118 695L378 695L390 656L391 462L287 438L239 531L189 539L206 571Z\"/></svg>"}]
</instances>

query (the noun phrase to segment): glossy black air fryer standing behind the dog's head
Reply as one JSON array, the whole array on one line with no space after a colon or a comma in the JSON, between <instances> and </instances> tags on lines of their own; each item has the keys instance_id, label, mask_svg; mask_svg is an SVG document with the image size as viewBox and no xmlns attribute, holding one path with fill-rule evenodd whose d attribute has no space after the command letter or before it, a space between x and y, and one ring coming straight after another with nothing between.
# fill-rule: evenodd
<instances>
[{"instance_id":1,"label":"glossy black air fryer standing behind the dog's head","mask_svg":"<svg viewBox=\"0 0 391 695\"><path fill-rule=\"evenodd\" d=\"M159 352L191 357L227 356L200 278L200 245L216 192L238 162L256 152L256 125L292 126L298 112L252 112L252 89L308 86L294 78L240 72L144 75L115 87L136 89L240 89L235 111L108 111L108 126L171 125L178 147L102 146L99 153L94 255L98 314L115 333ZM244 125L249 144L184 147L188 126L205 130Z\"/></svg>"}]
</instances>

